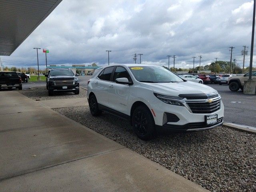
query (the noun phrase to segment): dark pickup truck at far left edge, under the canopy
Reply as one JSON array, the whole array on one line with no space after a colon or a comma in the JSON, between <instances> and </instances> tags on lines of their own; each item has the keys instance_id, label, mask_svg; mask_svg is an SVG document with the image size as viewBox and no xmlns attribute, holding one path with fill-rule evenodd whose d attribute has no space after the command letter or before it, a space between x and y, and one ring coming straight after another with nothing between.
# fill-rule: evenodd
<instances>
[{"instance_id":1,"label":"dark pickup truck at far left edge, under the canopy","mask_svg":"<svg viewBox=\"0 0 256 192\"><path fill-rule=\"evenodd\" d=\"M22 90L21 77L16 72L0 72L0 88Z\"/></svg>"}]
</instances>

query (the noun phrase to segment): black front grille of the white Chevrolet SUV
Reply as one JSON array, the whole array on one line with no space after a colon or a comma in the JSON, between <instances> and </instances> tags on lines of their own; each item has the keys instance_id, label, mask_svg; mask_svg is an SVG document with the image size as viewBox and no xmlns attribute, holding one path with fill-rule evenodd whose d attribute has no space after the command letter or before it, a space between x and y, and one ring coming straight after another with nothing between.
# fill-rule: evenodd
<instances>
[{"instance_id":1,"label":"black front grille of the white Chevrolet SUV","mask_svg":"<svg viewBox=\"0 0 256 192\"><path fill-rule=\"evenodd\" d=\"M208 102L187 102L193 113L213 113L220 109L220 99L213 101L212 103Z\"/></svg>"}]
</instances>

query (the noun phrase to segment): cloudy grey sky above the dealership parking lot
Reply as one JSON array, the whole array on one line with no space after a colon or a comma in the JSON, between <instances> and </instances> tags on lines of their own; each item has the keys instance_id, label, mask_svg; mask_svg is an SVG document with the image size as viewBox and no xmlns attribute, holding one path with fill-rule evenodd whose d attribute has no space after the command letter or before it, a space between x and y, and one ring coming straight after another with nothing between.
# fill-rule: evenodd
<instances>
[{"instance_id":1,"label":"cloudy grey sky above the dealership parking lot","mask_svg":"<svg viewBox=\"0 0 256 192\"><path fill-rule=\"evenodd\" d=\"M249 46L252 31L251 0L63 0L11 56L4 66L37 64L34 47L48 48L48 64L142 63L188 68L233 58L242 66L242 46ZM255 56L256 56L256 48ZM138 62L139 60L137 60ZM45 55L39 52L39 64ZM170 67L173 58L170 58ZM254 66L256 57L254 58Z\"/></svg>"}]
</instances>

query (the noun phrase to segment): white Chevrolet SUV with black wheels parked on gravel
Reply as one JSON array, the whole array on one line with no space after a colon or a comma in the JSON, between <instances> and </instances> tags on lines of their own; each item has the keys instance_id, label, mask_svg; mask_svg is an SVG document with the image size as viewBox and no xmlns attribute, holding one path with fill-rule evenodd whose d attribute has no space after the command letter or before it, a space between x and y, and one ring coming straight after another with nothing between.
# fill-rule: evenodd
<instances>
[{"instance_id":1,"label":"white Chevrolet SUV with black wheels parked on gravel","mask_svg":"<svg viewBox=\"0 0 256 192\"><path fill-rule=\"evenodd\" d=\"M201 131L223 124L224 106L216 90L162 66L98 68L88 81L87 99L93 116L105 111L130 120L142 140L158 130Z\"/></svg>"}]
</instances>

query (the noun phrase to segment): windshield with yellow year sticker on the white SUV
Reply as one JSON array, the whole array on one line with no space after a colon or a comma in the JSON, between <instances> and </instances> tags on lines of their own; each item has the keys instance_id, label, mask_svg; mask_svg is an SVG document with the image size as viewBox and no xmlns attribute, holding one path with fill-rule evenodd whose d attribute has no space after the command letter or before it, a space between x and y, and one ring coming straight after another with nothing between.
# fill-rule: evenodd
<instances>
[{"instance_id":1,"label":"windshield with yellow year sticker on the white SUV","mask_svg":"<svg viewBox=\"0 0 256 192\"><path fill-rule=\"evenodd\" d=\"M146 83L170 83L183 82L183 80L161 66L129 67L132 74L139 82Z\"/></svg>"}]
</instances>

